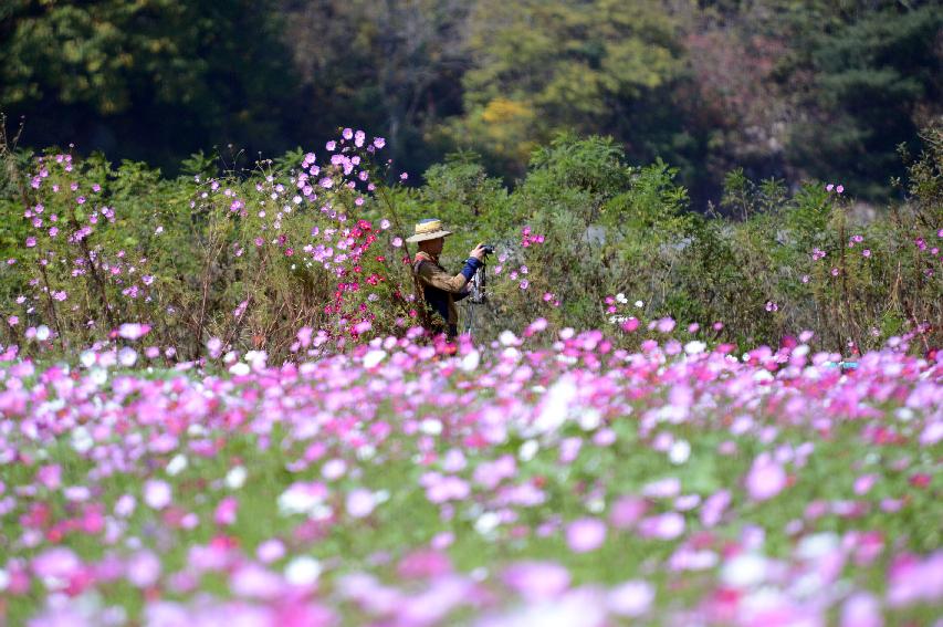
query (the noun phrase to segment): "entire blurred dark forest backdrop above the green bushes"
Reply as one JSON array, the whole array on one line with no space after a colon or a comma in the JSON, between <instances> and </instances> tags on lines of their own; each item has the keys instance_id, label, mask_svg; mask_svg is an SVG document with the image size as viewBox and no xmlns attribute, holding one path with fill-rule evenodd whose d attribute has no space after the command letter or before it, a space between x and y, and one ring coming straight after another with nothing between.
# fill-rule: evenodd
<instances>
[{"instance_id":1,"label":"entire blurred dark forest backdrop above the green bushes","mask_svg":"<svg viewBox=\"0 0 943 627\"><path fill-rule=\"evenodd\" d=\"M915 0L4 0L0 111L21 147L168 174L357 126L398 170L467 150L513 184L574 130L678 167L696 209L735 168L882 201L943 114L941 32Z\"/></svg>"}]
</instances>

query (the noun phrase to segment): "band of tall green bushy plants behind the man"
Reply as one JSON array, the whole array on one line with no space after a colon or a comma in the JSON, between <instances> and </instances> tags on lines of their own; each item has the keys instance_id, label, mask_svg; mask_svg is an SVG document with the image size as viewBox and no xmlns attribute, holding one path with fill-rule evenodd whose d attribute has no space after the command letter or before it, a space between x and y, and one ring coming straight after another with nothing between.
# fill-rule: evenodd
<instances>
[{"instance_id":1,"label":"band of tall green bushy plants behind the man","mask_svg":"<svg viewBox=\"0 0 943 627\"><path fill-rule=\"evenodd\" d=\"M41 168L49 178L33 190L19 169L24 156L8 150L0 241L15 263L0 271L0 293L3 316L22 322L4 334L21 343L25 326L52 322L69 344L84 345L102 330L142 321L156 326L153 337L163 346L188 356L209 337L286 354L302 326L340 337L362 320L371 321L370 334L397 335L415 315L401 263L415 247L396 248L392 238L405 239L418 220L437 217L455 232L442 255L447 269L458 271L478 242L497 247L488 260L489 303L460 305L462 321L473 316L482 341L544 317L553 328L611 328L633 345L641 334L621 334L621 323L670 316L682 336L698 323L702 337L748 345L775 345L803 330L837 351L872 347L914 330L939 342L930 325L943 316L941 143L939 129L925 136L925 150L910 166L912 196L872 221L862 221L845 194L821 182L787 194L779 181L757 184L743 171L729 175L725 192L736 219L703 217L690 211L675 168L661 160L631 166L611 138L558 136L534 151L527 176L512 191L488 176L476 155L458 154L430 168L423 187L380 185L363 207L343 186L325 196L323 202L356 219L392 221L389 231L377 231L380 248L362 260L358 276L343 280L312 263L311 250L302 253L323 240L317 207L287 211L271 200L279 186L295 185L292 164L300 153L238 176L210 176L213 160L198 154L185 164L191 174L176 179L139 163L115 167L93 156L70 164L50 153ZM74 180L84 182L73 192ZM92 198L86 188L93 182L101 191L92 203L76 205L78 195ZM61 191L51 192L56 184ZM87 250L44 234L24 249L35 231L23 216L38 203L43 219L55 213L66 224L83 223L93 206L111 208L115 219L102 220ZM41 250L50 263L36 274ZM76 252L97 255L94 272L71 275ZM115 265L122 273L108 275ZM128 273L154 279L145 288ZM367 276L381 280L367 288ZM128 296L128 281L138 295ZM52 297L61 292L67 297ZM615 294L621 296L614 304ZM28 301L14 303L18 295ZM715 328L716 322L723 326Z\"/></svg>"}]
</instances>

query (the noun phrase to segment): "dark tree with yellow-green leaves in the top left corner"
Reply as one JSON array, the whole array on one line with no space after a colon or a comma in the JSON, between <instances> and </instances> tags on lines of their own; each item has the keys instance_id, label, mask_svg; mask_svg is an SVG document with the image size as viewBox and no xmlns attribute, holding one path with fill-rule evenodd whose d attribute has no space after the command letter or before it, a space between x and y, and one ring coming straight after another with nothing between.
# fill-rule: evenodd
<instances>
[{"instance_id":1,"label":"dark tree with yellow-green leaves in the top left corner","mask_svg":"<svg viewBox=\"0 0 943 627\"><path fill-rule=\"evenodd\" d=\"M284 149L294 86L268 0L14 0L0 10L0 107L32 145L176 164L233 143Z\"/></svg>"}]
</instances>

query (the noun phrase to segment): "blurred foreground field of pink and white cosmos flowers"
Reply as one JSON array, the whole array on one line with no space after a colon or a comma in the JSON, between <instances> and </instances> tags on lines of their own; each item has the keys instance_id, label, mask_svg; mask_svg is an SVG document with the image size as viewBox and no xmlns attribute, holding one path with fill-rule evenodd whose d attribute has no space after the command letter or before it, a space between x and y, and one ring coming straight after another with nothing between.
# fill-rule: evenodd
<instances>
[{"instance_id":1,"label":"blurred foreground field of pink and white cosmos flowers","mask_svg":"<svg viewBox=\"0 0 943 627\"><path fill-rule=\"evenodd\" d=\"M943 364L905 341L413 338L8 353L0 621L940 624Z\"/></svg>"}]
</instances>

